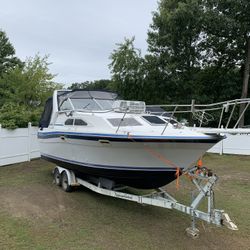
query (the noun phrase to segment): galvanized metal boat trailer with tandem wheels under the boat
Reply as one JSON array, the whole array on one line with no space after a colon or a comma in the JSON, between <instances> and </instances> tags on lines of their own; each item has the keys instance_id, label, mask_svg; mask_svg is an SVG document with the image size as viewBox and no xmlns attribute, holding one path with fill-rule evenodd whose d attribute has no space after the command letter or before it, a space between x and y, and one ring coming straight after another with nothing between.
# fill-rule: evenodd
<instances>
[{"instance_id":1,"label":"galvanized metal boat trailer with tandem wheels under the boat","mask_svg":"<svg viewBox=\"0 0 250 250\"><path fill-rule=\"evenodd\" d=\"M53 171L54 182L66 192L72 191L73 187L84 186L96 193L134 201L143 205L152 205L162 208L175 209L191 216L191 226L186 229L188 236L198 238L199 229L196 227L196 219L206 221L217 226L226 226L231 230L238 230L237 226L231 221L229 215L224 210L214 208L214 191L218 177L211 173L206 167L195 166L184 172L194 184L196 190L192 192L192 202L189 206L179 203L174 197L162 188L146 195L135 195L121 192L126 186L116 186L111 180L103 178L90 178L83 180L75 176L74 171L62 167L55 167ZM196 195L194 195L196 193ZM207 198L207 211L198 209L200 203Z\"/></svg>"}]
</instances>

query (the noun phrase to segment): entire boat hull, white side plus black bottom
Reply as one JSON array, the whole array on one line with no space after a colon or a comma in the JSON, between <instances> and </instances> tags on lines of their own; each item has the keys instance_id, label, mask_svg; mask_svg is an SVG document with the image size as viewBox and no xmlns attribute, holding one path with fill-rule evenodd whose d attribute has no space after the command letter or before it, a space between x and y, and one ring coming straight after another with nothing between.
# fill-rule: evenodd
<instances>
[{"instance_id":1,"label":"entire boat hull, white side plus black bottom","mask_svg":"<svg viewBox=\"0 0 250 250\"><path fill-rule=\"evenodd\" d=\"M193 166L214 143L40 139L42 157L76 173L137 188L157 188Z\"/></svg>"}]
</instances>

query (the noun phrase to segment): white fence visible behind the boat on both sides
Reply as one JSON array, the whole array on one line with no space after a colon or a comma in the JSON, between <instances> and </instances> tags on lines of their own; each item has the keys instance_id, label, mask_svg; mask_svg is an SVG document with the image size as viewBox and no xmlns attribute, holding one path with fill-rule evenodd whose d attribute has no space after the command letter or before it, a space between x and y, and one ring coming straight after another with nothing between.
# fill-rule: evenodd
<instances>
[{"instance_id":1,"label":"white fence visible behind the boat on both sides","mask_svg":"<svg viewBox=\"0 0 250 250\"><path fill-rule=\"evenodd\" d=\"M0 125L0 166L30 161L40 157L37 127L7 130ZM228 135L208 152L219 154L250 155L249 135Z\"/></svg>"}]
</instances>

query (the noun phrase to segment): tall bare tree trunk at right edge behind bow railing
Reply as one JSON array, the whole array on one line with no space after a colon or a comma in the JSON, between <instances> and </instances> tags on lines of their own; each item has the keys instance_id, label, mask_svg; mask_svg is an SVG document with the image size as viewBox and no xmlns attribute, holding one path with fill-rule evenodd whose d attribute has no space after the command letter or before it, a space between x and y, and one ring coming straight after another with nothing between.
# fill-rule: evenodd
<instances>
[{"instance_id":1,"label":"tall bare tree trunk at right edge behind bow railing","mask_svg":"<svg viewBox=\"0 0 250 250\"><path fill-rule=\"evenodd\" d=\"M249 81L249 68L250 68L250 37L247 38L247 57L246 57L246 61L245 61L241 98L247 98L248 81ZM239 115L241 115L244 108L245 108L245 104L241 104ZM241 128L243 126L244 126L244 115L239 122L239 127Z\"/></svg>"}]
</instances>

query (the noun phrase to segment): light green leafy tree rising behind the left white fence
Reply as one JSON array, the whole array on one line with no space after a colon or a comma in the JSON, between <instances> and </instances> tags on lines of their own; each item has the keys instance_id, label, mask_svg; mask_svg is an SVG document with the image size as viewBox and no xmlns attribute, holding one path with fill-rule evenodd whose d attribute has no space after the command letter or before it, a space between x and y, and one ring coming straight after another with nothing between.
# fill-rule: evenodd
<instances>
[{"instance_id":1,"label":"light green leafy tree rising behind the left white fence","mask_svg":"<svg viewBox=\"0 0 250 250\"><path fill-rule=\"evenodd\" d=\"M61 85L52 81L48 56L36 55L0 79L0 123L6 128L38 124L46 99Z\"/></svg>"}]
</instances>

